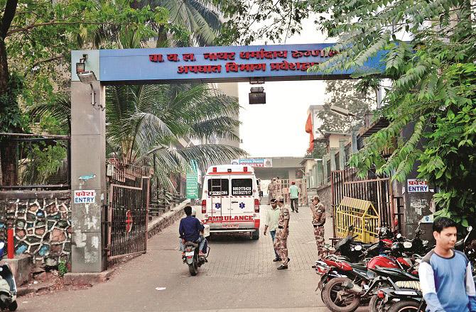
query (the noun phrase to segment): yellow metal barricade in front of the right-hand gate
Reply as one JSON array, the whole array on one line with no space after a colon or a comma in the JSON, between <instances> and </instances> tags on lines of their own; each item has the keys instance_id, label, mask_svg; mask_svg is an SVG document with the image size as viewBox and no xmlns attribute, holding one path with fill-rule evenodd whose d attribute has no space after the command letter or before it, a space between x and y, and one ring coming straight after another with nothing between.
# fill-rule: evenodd
<instances>
[{"instance_id":1,"label":"yellow metal barricade in front of the right-hand gate","mask_svg":"<svg viewBox=\"0 0 476 312\"><path fill-rule=\"evenodd\" d=\"M335 210L335 234L345 238L350 225L354 225L356 240L375 243L378 240L380 216L370 201L344 197Z\"/></svg>"}]
</instances>

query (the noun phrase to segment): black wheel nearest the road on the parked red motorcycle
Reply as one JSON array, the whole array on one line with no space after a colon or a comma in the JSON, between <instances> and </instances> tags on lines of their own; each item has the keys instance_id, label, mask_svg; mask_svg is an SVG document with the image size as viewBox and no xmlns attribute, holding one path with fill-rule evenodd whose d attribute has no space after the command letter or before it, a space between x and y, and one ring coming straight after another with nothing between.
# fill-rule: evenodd
<instances>
[{"instance_id":1,"label":"black wheel nearest the road on the parked red motorcycle","mask_svg":"<svg viewBox=\"0 0 476 312\"><path fill-rule=\"evenodd\" d=\"M344 294L343 299L337 296L337 293L344 289L342 284L347 284L347 282L352 282L352 280L347 277L335 277L325 284L322 299L330 311L352 312L359 307L360 297L356 294Z\"/></svg>"}]
</instances>

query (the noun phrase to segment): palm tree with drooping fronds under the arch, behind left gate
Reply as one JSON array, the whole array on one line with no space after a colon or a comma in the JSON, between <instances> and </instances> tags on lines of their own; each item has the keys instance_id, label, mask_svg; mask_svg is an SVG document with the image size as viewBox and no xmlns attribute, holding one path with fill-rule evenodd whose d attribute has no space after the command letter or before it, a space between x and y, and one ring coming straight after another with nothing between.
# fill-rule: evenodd
<instances>
[{"instance_id":1,"label":"palm tree with drooping fronds under the arch, behind left gate","mask_svg":"<svg viewBox=\"0 0 476 312\"><path fill-rule=\"evenodd\" d=\"M237 99L206 84L114 86L107 89L108 155L122 162L155 163L159 182L170 185L173 173L183 173L194 160L201 169L245 152L220 144L183 146L183 141L229 138ZM155 159L155 160L154 160Z\"/></svg>"}]
</instances>

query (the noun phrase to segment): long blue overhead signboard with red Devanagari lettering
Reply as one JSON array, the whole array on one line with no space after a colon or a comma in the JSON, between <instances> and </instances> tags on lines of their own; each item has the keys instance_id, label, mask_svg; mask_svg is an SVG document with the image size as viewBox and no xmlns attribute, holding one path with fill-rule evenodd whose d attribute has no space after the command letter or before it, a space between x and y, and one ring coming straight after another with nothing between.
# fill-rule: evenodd
<instances>
[{"instance_id":1,"label":"long blue overhead signboard with red Devanagari lettering","mask_svg":"<svg viewBox=\"0 0 476 312\"><path fill-rule=\"evenodd\" d=\"M325 51L332 43L301 45L246 45L155 49L99 50L102 82L181 82L195 80L239 82L326 79L308 68L337 55ZM360 70L382 68L382 53L369 59ZM334 72L348 77L353 69Z\"/></svg>"}]
</instances>

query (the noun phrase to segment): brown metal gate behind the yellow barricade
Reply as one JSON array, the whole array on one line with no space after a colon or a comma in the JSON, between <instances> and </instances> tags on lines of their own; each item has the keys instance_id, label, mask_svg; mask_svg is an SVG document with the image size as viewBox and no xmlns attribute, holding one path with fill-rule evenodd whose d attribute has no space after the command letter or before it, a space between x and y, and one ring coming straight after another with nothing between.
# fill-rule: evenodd
<instances>
[{"instance_id":1,"label":"brown metal gate behind the yellow barricade","mask_svg":"<svg viewBox=\"0 0 476 312\"><path fill-rule=\"evenodd\" d=\"M332 211L335 212L344 197L371 201L380 216L380 224L400 229L400 224L395 224L394 197L389 177L379 177L369 172L367 177L357 176L357 169L348 168L331 172Z\"/></svg>"}]
</instances>

